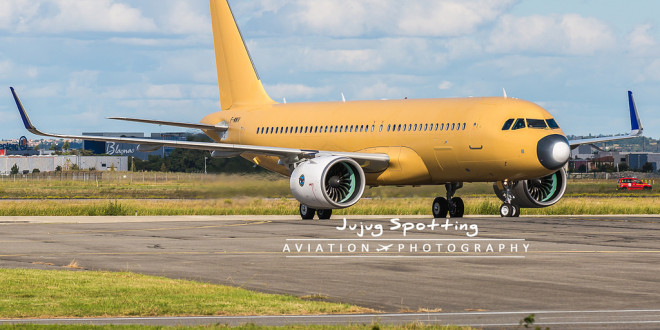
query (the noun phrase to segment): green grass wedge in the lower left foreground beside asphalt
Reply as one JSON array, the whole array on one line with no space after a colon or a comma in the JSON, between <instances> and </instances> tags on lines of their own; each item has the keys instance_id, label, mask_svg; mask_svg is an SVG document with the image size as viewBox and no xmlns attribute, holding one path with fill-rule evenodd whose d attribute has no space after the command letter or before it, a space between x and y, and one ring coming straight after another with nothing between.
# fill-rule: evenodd
<instances>
[{"instance_id":1,"label":"green grass wedge in the lower left foreground beside asphalt","mask_svg":"<svg viewBox=\"0 0 660 330\"><path fill-rule=\"evenodd\" d=\"M135 273L0 269L0 318L370 312L348 304Z\"/></svg>"}]
</instances>

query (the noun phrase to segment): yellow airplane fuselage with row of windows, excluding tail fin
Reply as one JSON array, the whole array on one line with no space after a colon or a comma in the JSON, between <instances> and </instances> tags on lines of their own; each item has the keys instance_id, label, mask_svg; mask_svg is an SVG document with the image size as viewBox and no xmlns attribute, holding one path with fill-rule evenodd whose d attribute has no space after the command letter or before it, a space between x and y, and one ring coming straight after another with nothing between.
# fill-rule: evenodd
<instances>
[{"instance_id":1,"label":"yellow airplane fuselage with row of windows, excluding tail fin","mask_svg":"<svg viewBox=\"0 0 660 330\"><path fill-rule=\"evenodd\" d=\"M532 179L556 169L541 164L538 144L557 128L503 130L509 119L550 120L540 106L513 98L449 98L244 106L202 123L225 122L218 142L310 150L386 153L390 166L367 171L369 185L424 185ZM530 121L531 123L531 121ZM565 137L564 137L565 139ZM277 157L243 153L288 175Z\"/></svg>"}]
</instances>

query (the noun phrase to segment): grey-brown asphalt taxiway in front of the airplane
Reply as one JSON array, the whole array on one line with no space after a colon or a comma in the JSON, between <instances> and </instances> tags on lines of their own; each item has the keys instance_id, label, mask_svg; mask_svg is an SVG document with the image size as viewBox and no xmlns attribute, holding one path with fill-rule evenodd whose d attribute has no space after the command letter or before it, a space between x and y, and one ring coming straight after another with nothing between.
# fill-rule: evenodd
<instances>
[{"instance_id":1,"label":"grey-brown asphalt taxiway in front of the airplane","mask_svg":"<svg viewBox=\"0 0 660 330\"><path fill-rule=\"evenodd\" d=\"M392 218L348 217L355 230L340 230L339 218L3 217L0 267L62 269L75 259L85 269L317 294L388 313L129 323L508 327L535 313L537 325L660 327L660 216L467 217L446 229L419 217L397 229ZM404 223L420 225L404 235Z\"/></svg>"}]
</instances>

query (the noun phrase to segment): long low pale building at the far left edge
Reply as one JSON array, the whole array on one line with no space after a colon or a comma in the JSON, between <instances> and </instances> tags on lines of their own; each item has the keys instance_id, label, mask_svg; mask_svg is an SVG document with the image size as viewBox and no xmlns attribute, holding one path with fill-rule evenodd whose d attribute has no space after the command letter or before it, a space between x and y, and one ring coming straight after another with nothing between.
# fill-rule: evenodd
<instances>
[{"instance_id":1,"label":"long low pale building at the far left edge","mask_svg":"<svg viewBox=\"0 0 660 330\"><path fill-rule=\"evenodd\" d=\"M9 175L11 168L18 166L19 173L32 173L34 169L40 172L55 171L58 166L62 171L96 170L96 171L128 171L126 156L0 156L0 175Z\"/></svg>"}]
</instances>

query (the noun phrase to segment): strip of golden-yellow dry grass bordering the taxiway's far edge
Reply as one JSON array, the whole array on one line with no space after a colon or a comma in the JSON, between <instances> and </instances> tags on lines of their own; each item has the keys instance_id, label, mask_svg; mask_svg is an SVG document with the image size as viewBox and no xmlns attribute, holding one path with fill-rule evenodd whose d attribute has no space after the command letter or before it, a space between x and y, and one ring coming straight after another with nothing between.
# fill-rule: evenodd
<instances>
[{"instance_id":1,"label":"strip of golden-yellow dry grass bordering the taxiway's far edge","mask_svg":"<svg viewBox=\"0 0 660 330\"><path fill-rule=\"evenodd\" d=\"M464 197L465 214L498 215L497 197ZM430 198L362 199L354 206L333 210L333 215L431 216ZM295 199L253 197L208 200L4 200L0 216L100 215L297 215ZM660 197L564 197L523 215L660 214Z\"/></svg>"}]
</instances>

